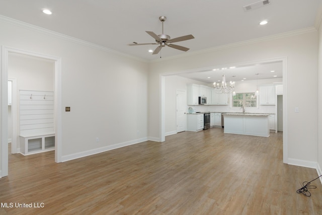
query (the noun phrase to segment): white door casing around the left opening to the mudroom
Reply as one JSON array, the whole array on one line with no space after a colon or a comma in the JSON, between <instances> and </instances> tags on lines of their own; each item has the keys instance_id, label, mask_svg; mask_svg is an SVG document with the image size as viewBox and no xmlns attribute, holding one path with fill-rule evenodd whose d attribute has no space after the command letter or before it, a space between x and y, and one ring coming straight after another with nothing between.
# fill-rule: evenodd
<instances>
[{"instance_id":1,"label":"white door casing around the left opening to the mudroom","mask_svg":"<svg viewBox=\"0 0 322 215\"><path fill-rule=\"evenodd\" d=\"M25 54L34 57L45 58L49 60L55 61L55 75L54 75L54 90L55 90L55 98L54 98L54 115L55 115L55 162L60 163L62 161L61 154L61 58L56 56L51 56L43 53L37 53L32 51L26 51L18 48L2 46L2 66L1 66L1 92L2 92L2 100L1 100L1 170L0 170L0 178L4 176L8 176L8 60L9 53L18 53Z\"/></svg>"}]
</instances>

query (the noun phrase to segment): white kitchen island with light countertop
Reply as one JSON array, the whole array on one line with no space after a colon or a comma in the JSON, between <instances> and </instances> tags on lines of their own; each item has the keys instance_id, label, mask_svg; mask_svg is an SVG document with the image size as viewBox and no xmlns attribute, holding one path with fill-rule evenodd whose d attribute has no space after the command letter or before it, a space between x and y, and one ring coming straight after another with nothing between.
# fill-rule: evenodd
<instances>
[{"instance_id":1,"label":"white kitchen island with light countertop","mask_svg":"<svg viewBox=\"0 0 322 215\"><path fill-rule=\"evenodd\" d=\"M268 137L270 135L269 115L265 113L223 113L224 133Z\"/></svg>"}]
</instances>

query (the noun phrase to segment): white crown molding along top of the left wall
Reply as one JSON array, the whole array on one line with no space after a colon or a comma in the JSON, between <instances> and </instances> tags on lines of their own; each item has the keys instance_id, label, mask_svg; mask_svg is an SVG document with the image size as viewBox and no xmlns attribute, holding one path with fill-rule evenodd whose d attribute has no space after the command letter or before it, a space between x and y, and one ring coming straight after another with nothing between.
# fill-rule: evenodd
<instances>
[{"instance_id":1,"label":"white crown molding along top of the left wall","mask_svg":"<svg viewBox=\"0 0 322 215\"><path fill-rule=\"evenodd\" d=\"M142 62L148 62L145 59L135 57L133 55L125 54L123 52L119 52L119 51L116 51L116 50L113 50L113 49L110 49L110 48L106 48L106 47L101 46L101 45L97 45L97 44L94 44L94 43L91 43L91 42L87 42L85 40L81 40L81 39L77 39L77 38L67 36L67 35L64 35L64 34L61 34L61 33L57 33L55 31L51 31L51 30L48 30L48 29L45 29L45 28L41 28L39 26L31 25L31 24L28 24L28 23L25 23L25 22L22 22L22 21L19 21L19 20L15 20L15 19L12 19L12 18L9 18L9 17L5 17L5 16L2 16L2 15L0 15L0 22L15 25L15 26L18 26L18 27L22 27L22 28L25 28L25 29L28 29L28 30L31 30L31 31L34 31L34 32L46 34L46 35L49 35L49 36L52 36L52 37L56 37L58 39L63 39L63 40L69 41L69 42L77 43L79 45L88 46L88 47L98 49L98 50L101 50L101 51L105 51L105 52L108 52L108 53L117 54L117 55L120 55L120 56L123 56L123 57L128 57L128 58L135 59L135 60L142 61Z\"/></svg>"}]
</instances>

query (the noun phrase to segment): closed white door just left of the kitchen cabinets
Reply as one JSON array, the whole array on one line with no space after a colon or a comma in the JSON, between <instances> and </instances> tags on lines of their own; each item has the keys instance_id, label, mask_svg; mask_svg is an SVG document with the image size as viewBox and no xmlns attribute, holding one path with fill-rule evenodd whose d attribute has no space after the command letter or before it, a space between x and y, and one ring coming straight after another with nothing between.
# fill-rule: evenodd
<instances>
[{"instance_id":1,"label":"closed white door just left of the kitchen cabinets","mask_svg":"<svg viewBox=\"0 0 322 215\"><path fill-rule=\"evenodd\" d=\"M186 91L177 90L177 133L186 130Z\"/></svg>"}]
</instances>

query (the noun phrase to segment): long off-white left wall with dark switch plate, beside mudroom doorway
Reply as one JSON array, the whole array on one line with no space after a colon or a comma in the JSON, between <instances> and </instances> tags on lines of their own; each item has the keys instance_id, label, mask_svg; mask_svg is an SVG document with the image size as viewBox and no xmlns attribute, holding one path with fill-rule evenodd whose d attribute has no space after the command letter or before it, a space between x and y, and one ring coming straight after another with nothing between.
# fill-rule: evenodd
<instances>
[{"instance_id":1,"label":"long off-white left wall with dark switch plate, beside mudroom doorway","mask_svg":"<svg viewBox=\"0 0 322 215\"><path fill-rule=\"evenodd\" d=\"M61 57L63 161L146 140L146 62L29 25L0 29L0 45Z\"/></svg>"}]
</instances>

